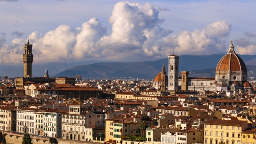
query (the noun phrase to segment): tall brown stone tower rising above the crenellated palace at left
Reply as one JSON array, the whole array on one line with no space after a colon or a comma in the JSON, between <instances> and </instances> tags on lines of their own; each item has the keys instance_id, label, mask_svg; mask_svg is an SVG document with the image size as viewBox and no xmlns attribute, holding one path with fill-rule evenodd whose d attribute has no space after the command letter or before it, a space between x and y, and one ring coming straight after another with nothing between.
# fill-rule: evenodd
<instances>
[{"instance_id":1,"label":"tall brown stone tower rising above the crenellated palace at left","mask_svg":"<svg viewBox=\"0 0 256 144\"><path fill-rule=\"evenodd\" d=\"M23 54L23 62L24 62L24 78L32 77L32 62L33 62L33 54L32 54L32 45L28 41L24 46L24 54Z\"/></svg>"}]
</instances>

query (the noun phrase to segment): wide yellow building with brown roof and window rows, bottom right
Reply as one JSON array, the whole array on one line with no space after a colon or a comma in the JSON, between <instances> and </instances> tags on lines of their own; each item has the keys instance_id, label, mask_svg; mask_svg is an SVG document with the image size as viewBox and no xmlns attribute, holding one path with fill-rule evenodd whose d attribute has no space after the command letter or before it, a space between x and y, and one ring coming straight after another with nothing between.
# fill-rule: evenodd
<instances>
[{"instance_id":1,"label":"wide yellow building with brown roof and window rows, bottom right","mask_svg":"<svg viewBox=\"0 0 256 144\"><path fill-rule=\"evenodd\" d=\"M247 121L211 119L204 122L204 143L241 144L242 131L248 128Z\"/></svg>"}]
</instances>

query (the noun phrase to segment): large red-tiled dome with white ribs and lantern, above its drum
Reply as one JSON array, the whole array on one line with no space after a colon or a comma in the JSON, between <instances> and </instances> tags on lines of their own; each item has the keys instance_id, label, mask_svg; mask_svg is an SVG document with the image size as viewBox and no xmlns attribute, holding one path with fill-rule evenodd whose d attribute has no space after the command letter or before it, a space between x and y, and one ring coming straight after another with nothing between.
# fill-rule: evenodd
<instances>
[{"instance_id":1,"label":"large red-tiled dome with white ribs and lantern, above its drum","mask_svg":"<svg viewBox=\"0 0 256 144\"><path fill-rule=\"evenodd\" d=\"M246 65L243 62L243 59L238 56L234 51L234 46L230 44L229 52L220 59L220 62L217 65L216 71L242 71L247 72Z\"/></svg>"}]
</instances>

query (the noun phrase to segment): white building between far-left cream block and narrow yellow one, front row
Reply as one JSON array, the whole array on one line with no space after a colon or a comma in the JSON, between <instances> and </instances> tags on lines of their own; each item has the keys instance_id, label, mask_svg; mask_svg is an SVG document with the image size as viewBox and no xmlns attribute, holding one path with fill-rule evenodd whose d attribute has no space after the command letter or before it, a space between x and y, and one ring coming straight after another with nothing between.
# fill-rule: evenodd
<instances>
[{"instance_id":1,"label":"white building between far-left cream block and narrow yellow one, front row","mask_svg":"<svg viewBox=\"0 0 256 144\"><path fill-rule=\"evenodd\" d=\"M17 128L20 133L35 134L35 111L36 108L19 108L16 109Z\"/></svg>"}]
</instances>

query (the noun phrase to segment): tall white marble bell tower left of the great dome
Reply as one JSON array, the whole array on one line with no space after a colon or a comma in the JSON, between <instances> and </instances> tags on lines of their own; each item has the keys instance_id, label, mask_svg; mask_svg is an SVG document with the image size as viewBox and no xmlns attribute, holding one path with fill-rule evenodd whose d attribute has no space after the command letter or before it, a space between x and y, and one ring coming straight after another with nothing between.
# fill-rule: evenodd
<instances>
[{"instance_id":1,"label":"tall white marble bell tower left of the great dome","mask_svg":"<svg viewBox=\"0 0 256 144\"><path fill-rule=\"evenodd\" d=\"M178 90L179 89L179 58L180 56L171 55L169 58L169 90Z\"/></svg>"}]
</instances>

